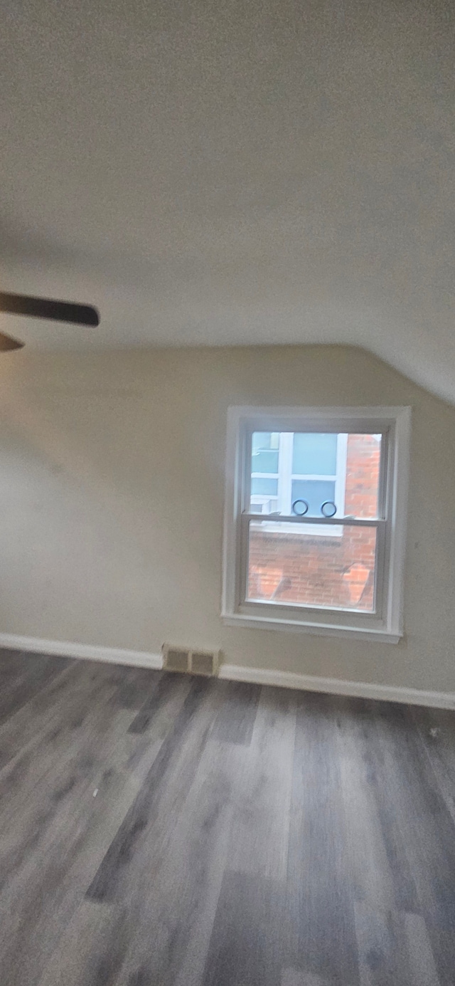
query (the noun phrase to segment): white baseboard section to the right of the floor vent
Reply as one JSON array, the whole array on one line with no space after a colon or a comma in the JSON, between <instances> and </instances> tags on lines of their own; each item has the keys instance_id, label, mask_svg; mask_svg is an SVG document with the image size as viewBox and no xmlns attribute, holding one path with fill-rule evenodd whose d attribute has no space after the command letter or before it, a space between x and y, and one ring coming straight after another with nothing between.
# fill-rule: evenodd
<instances>
[{"instance_id":1,"label":"white baseboard section to the right of the floor vent","mask_svg":"<svg viewBox=\"0 0 455 986\"><path fill-rule=\"evenodd\" d=\"M230 681L250 681L254 684L272 684L282 688L299 688L301 691L323 691L330 695L351 695L358 698L380 699L385 702L428 705L435 709L455 709L455 694L446 691L421 691L419 688L323 678L313 674L294 674L292 671L243 668L240 665L222 665L220 677Z\"/></svg>"}]
</instances>

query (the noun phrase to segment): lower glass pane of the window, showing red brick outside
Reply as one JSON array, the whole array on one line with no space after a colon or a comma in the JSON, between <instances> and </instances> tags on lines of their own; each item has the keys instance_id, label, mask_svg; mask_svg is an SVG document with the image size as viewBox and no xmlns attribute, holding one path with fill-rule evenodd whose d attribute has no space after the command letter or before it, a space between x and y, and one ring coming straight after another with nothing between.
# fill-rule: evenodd
<instances>
[{"instance_id":1,"label":"lower glass pane of the window, showing red brick outside","mask_svg":"<svg viewBox=\"0 0 455 986\"><path fill-rule=\"evenodd\" d=\"M249 526L247 599L372 612L376 528L343 528L341 537Z\"/></svg>"}]
</instances>

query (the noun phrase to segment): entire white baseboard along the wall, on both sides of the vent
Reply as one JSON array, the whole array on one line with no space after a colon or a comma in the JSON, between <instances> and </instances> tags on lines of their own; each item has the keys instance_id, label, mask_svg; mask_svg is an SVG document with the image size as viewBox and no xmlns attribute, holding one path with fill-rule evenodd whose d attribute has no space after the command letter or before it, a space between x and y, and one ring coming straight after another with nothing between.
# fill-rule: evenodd
<instances>
[{"instance_id":1,"label":"entire white baseboard along the wall, on both sides of the vent","mask_svg":"<svg viewBox=\"0 0 455 986\"><path fill-rule=\"evenodd\" d=\"M149 654L147 651L124 651L115 647L92 647L90 644L73 644L61 640L42 640L39 637L21 637L14 633L0 633L1 647L10 648L14 651L30 651L34 654L57 654L65 658L82 658L86 661L107 661L111 664L130 665L134 668L162 668L161 654ZM292 671L243 668L242 665L221 665L219 676L230 681L271 684L281 688L298 688L301 691L322 691L330 695L350 695L358 698L380 699L386 702L426 705L435 709L455 709L455 694L446 691L421 691L419 688L316 677L313 674L295 674Z\"/></svg>"}]
</instances>

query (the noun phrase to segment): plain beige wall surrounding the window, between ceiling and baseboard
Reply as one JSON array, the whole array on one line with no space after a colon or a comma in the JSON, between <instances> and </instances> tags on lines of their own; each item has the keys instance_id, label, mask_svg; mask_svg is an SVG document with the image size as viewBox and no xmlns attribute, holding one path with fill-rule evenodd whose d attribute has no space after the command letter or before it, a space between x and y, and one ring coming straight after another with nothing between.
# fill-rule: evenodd
<instances>
[{"instance_id":1,"label":"plain beige wall surrounding the window, between ceiling and baseboard","mask_svg":"<svg viewBox=\"0 0 455 986\"><path fill-rule=\"evenodd\" d=\"M229 404L411 404L406 637L220 620ZM347 347L2 355L0 631L455 691L455 408Z\"/></svg>"}]
</instances>

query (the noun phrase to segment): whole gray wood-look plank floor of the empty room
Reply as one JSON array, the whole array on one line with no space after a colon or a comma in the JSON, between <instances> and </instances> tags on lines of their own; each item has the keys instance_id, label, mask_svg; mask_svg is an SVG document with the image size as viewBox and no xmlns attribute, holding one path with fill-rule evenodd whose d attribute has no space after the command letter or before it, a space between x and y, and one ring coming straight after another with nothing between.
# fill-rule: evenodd
<instances>
[{"instance_id":1,"label":"whole gray wood-look plank floor of the empty room","mask_svg":"<svg viewBox=\"0 0 455 986\"><path fill-rule=\"evenodd\" d=\"M0 652L0 983L454 986L455 713Z\"/></svg>"}]
</instances>

